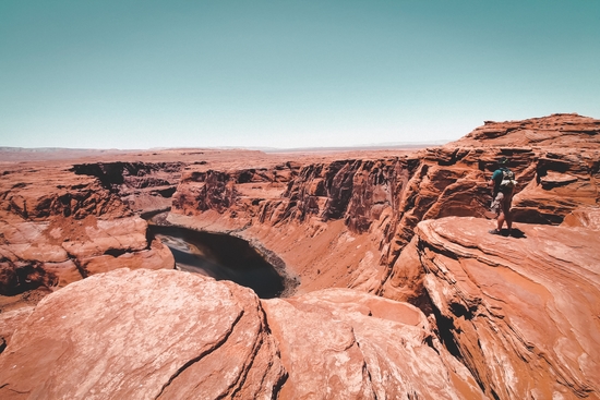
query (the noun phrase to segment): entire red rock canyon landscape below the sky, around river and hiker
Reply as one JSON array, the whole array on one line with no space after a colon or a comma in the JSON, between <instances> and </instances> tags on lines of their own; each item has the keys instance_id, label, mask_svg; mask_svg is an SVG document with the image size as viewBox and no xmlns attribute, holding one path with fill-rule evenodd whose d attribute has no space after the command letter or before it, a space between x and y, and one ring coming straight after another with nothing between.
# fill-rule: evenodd
<instances>
[{"instance_id":1,"label":"entire red rock canyon landscape below the sky, around river and hiker","mask_svg":"<svg viewBox=\"0 0 600 400\"><path fill-rule=\"evenodd\" d=\"M600 399L600 120L40 157L0 163L2 398ZM243 240L284 289L181 270L159 229Z\"/></svg>"}]
</instances>

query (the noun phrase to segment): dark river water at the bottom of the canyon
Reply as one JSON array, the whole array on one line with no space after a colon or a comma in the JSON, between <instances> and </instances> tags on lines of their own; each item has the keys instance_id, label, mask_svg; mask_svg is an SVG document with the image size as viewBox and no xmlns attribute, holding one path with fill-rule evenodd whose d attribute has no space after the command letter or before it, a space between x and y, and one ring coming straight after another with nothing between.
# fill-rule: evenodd
<instances>
[{"instance_id":1,"label":"dark river water at the bottom of the canyon","mask_svg":"<svg viewBox=\"0 0 600 400\"><path fill-rule=\"evenodd\" d=\"M275 267L242 239L179 227L149 226L149 230L169 246L182 270L231 280L261 299L278 298L285 290L285 279Z\"/></svg>"}]
</instances>

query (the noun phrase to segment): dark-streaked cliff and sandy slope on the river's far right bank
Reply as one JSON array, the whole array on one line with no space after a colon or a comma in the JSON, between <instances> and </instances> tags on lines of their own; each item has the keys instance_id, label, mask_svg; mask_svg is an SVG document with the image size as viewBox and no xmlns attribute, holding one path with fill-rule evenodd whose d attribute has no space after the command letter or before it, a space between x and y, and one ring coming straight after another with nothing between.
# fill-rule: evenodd
<instances>
[{"instance_id":1,"label":"dark-streaked cliff and sandy slope on the river's far right bank","mask_svg":"<svg viewBox=\"0 0 600 400\"><path fill-rule=\"evenodd\" d=\"M307 291L334 282L373 289L380 243L368 237L355 242L356 234L388 219L396 172L406 162L351 159L303 168L189 171L168 220L260 242L284 258L292 275L308 278L302 279ZM332 270L343 263L346 270Z\"/></svg>"}]
</instances>

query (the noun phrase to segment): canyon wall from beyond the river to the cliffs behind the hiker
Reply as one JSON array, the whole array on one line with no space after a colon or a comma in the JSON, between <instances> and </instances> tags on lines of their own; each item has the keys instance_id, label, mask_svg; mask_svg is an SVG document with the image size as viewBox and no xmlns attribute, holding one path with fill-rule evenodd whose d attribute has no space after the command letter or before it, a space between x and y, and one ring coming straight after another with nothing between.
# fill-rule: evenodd
<instances>
[{"instance_id":1,"label":"canyon wall from beyond the river to the cliffs behind the hiker","mask_svg":"<svg viewBox=\"0 0 600 400\"><path fill-rule=\"evenodd\" d=\"M168 220L261 243L300 276L299 292L332 286L381 292L421 220L493 217L488 181L500 157L509 158L518 181L516 221L560 225L581 207L597 207L598 125L557 114L487 123L485 130L504 130L494 137L525 137L506 147L479 128L465 140L398 157L224 171L192 166ZM543 135L553 141L532 138ZM334 259L343 272L328 272Z\"/></svg>"}]
</instances>

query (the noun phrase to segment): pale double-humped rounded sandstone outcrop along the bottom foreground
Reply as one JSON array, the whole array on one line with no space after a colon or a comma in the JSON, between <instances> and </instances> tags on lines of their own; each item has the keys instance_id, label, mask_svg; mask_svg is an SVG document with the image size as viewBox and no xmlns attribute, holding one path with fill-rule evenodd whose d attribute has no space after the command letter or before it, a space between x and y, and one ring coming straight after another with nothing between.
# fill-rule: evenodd
<instances>
[{"instance_id":1,"label":"pale double-humped rounded sandstone outcrop along the bottom foreground","mask_svg":"<svg viewBox=\"0 0 600 400\"><path fill-rule=\"evenodd\" d=\"M44 356L40 356L44 354ZM351 290L260 301L127 269L44 299L0 355L0 397L484 399L416 307Z\"/></svg>"}]
</instances>

